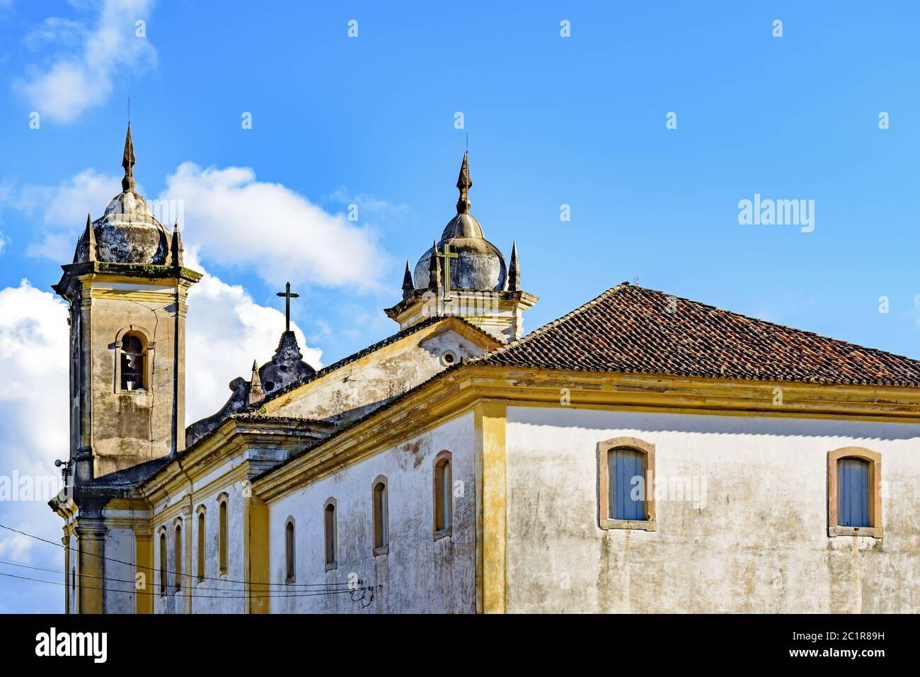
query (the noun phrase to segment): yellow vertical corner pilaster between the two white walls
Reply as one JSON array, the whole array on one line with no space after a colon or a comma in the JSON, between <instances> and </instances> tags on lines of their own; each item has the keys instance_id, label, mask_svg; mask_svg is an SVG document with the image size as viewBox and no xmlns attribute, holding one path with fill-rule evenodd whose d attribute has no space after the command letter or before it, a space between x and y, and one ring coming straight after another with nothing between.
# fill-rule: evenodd
<instances>
[{"instance_id":1,"label":"yellow vertical corner pilaster between the two white walls","mask_svg":"<svg viewBox=\"0 0 920 677\"><path fill-rule=\"evenodd\" d=\"M473 409L477 478L477 612L505 613L507 582L508 472L505 407Z\"/></svg>"}]
</instances>

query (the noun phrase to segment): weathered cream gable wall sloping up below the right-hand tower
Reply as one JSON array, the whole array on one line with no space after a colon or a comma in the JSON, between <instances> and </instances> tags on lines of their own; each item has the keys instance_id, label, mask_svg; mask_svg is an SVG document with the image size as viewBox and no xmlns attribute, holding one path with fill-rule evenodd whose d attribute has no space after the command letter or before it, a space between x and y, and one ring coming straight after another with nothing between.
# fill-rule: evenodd
<instances>
[{"instance_id":1,"label":"weathered cream gable wall sloping up below the right-hand tower","mask_svg":"<svg viewBox=\"0 0 920 677\"><path fill-rule=\"evenodd\" d=\"M483 349L459 333L445 331L418 343L385 346L370 356L347 364L317 379L297 399L283 404L272 415L305 416L339 422L368 414L397 395L408 391L445 368L441 356L453 351L462 357L483 354Z\"/></svg>"}]
</instances>

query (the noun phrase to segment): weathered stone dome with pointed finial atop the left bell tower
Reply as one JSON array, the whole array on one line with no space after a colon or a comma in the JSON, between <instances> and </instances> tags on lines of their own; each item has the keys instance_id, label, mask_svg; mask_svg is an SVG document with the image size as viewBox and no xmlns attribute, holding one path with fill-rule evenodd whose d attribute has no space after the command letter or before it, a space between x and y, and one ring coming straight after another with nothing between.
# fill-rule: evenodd
<instances>
[{"instance_id":1,"label":"weathered stone dome with pointed finial atop the left bell tower","mask_svg":"<svg viewBox=\"0 0 920 677\"><path fill-rule=\"evenodd\" d=\"M169 233L150 213L144 198L134 193L134 146L130 125L121 165L124 167L121 193L113 197L105 213L92 222L96 260L163 265L169 257ZM88 260L86 237L84 232L77 243L74 263Z\"/></svg>"}]
</instances>

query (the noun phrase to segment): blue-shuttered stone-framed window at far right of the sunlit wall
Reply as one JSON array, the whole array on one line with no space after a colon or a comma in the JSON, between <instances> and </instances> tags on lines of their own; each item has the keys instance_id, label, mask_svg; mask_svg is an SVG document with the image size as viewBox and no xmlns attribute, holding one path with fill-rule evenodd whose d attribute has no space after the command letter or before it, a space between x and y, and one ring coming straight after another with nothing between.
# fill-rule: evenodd
<instances>
[{"instance_id":1,"label":"blue-shuttered stone-framed window at far right of the sunlit wall","mask_svg":"<svg viewBox=\"0 0 920 677\"><path fill-rule=\"evenodd\" d=\"M828 454L828 535L881 538L881 454L845 447Z\"/></svg>"}]
</instances>

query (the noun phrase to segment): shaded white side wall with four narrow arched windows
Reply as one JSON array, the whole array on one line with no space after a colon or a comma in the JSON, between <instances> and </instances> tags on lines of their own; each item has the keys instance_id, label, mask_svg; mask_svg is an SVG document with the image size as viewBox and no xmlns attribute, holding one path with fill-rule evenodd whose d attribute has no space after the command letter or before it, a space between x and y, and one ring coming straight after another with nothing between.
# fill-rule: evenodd
<instances>
[{"instance_id":1,"label":"shaded white side wall with four narrow arched windows","mask_svg":"<svg viewBox=\"0 0 920 677\"><path fill-rule=\"evenodd\" d=\"M271 600L272 613L444 613L476 610L476 501L473 419L452 421L319 479L270 504L271 580L284 583L284 526L295 519L296 583L341 584L353 572L366 585L382 585L362 609L348 594L295 597L308 588L280 586L292 595ZM453 534L433 537L433 460L451 451ZM374 556L372 484L383 474L389 486L389 553ZM456 484L454 484L456 486ZM339 567L326 572L323 508L338 501Z\"/></svg>"}]
</instances>

